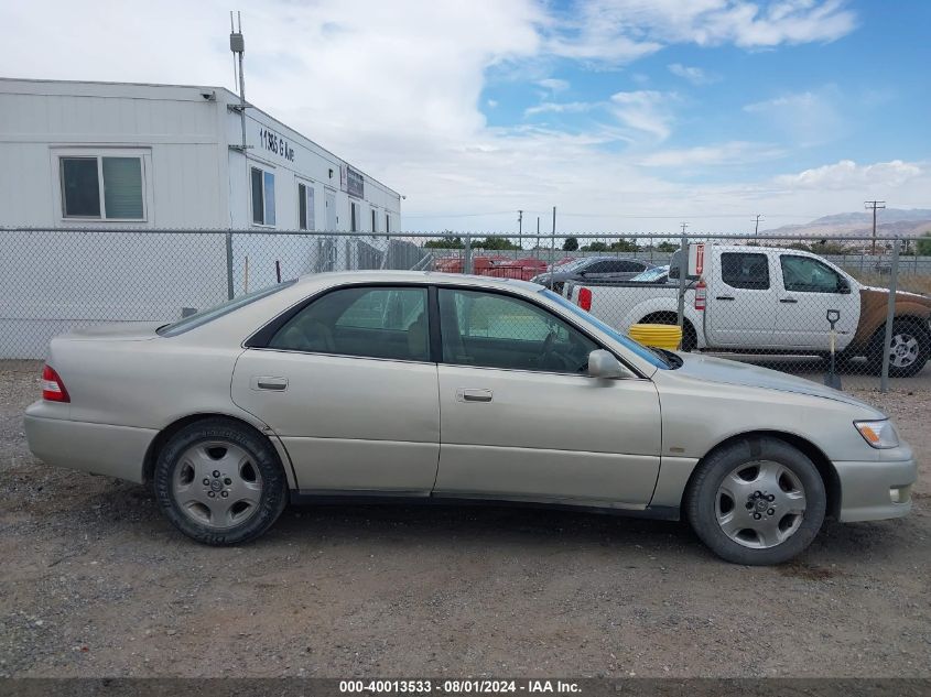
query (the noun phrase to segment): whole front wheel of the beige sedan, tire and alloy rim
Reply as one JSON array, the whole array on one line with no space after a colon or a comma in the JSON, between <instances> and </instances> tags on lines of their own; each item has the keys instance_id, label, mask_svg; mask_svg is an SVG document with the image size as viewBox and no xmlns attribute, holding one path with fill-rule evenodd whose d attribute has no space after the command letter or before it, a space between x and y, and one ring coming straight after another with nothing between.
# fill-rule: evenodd
<instances>
[{"instance_id":1,"label":"whole front wheel of the beige sedan, tire and alloy rim","mask_svg":"<svg viewBox=\"0 0 931 697\"><path fill-rule=\"evenodd\" d=\"M738 440L699 466L685 514L711 549L735 564L780 564L805 549L824 522L824 482L811 459L771 437Z\"/></svg>"}]
</instances>

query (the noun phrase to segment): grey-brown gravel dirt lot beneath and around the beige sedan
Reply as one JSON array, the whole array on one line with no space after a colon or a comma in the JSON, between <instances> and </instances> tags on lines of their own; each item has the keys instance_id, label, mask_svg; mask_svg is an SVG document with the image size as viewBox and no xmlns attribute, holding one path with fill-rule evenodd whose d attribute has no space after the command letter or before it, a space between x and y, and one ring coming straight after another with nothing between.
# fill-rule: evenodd
<instances>
[{"instance_id":1,"label":"grey-brown gravel dirt lot beneath and around the beige sedan","mask_svg":"<svg viewBox=\"0 0 931 697\"><path fill-rule=\"evenodd\" d=\"M30 456L39 370L0 361L0 675L931 675L931 369L845 377L916 448L916 512L827 523L778 568L683 524L501 508L292 508L197 546L147 489Z\"/></svg>"}]
</instances>

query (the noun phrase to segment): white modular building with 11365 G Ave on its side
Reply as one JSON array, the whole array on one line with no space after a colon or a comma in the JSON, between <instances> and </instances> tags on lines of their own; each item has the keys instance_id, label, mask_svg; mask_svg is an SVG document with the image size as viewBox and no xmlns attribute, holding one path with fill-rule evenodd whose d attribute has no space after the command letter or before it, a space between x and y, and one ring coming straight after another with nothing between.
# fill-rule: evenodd
<instances>
[{"instance_id":1,"label":"white modular building with 11365 G Ave on its side","mask_svg":"<svg viewBox=\"0 0 931 697\"><path fill-rule=\"evenodd\" d=\"M279 274L390 265L401 227L398 192L220 87L0 78L0 358Z\"/></svg>"}]
</instances>

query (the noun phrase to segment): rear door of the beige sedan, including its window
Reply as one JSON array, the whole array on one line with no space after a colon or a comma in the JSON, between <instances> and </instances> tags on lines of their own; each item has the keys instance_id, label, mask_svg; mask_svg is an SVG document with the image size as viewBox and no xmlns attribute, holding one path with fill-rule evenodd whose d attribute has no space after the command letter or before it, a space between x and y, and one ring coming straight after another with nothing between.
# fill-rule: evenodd
<instances>
[{"instance_id":1,"label":"rear door of the beige sedan, including its window","mask_svg":"<svg viewBox=\"0 0 931 697\"><path fill-rule=\"evenodd\" d=\"M440 415L426 295L332 291L237 361L232 401L281 438L302 491L429 495Z\"/></svg>"}]
</instances>

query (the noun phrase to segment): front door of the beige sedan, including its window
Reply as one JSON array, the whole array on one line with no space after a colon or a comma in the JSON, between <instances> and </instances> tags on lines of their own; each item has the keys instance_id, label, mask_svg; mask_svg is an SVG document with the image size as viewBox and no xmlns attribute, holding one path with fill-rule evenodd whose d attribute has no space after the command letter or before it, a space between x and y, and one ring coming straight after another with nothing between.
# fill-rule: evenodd
<instances>
[{"instance_id":1,"label":"front door of the beige sedan, including its window","mask_svg":"<svg viewBox=\"0 0 931 697\"><path fill-rule=\"evenodd\" d=\"M441 450L434 495L642 509L659 472L649 380L587 377L598 347L516 296L439 290Z\"/></svg>"}]
</instances>

